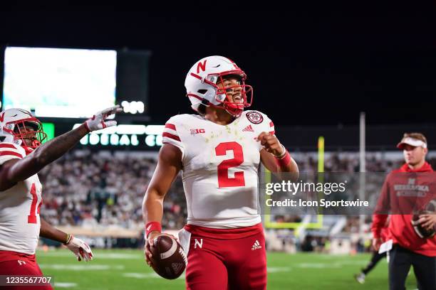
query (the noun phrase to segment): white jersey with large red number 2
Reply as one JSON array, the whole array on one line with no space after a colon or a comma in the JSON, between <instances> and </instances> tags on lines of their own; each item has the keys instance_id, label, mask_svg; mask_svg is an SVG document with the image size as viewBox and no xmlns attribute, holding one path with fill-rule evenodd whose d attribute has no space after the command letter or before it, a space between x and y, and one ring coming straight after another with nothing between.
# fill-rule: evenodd
<instances>
[{"instance_id":1,"label":"white jersey with large red number 2","mask_svg":"<svg viewBox=\"0 0 436 290\"><path fill-rule=\"evenodd\" d=\"M182 151L187 223L202 227L248 227L261 222L258 168L263 148L256 137L274 134L261 112L246 111L228 125L196 114L180 114L165 124L163 143Z\"/></svg>"}]
</instances>

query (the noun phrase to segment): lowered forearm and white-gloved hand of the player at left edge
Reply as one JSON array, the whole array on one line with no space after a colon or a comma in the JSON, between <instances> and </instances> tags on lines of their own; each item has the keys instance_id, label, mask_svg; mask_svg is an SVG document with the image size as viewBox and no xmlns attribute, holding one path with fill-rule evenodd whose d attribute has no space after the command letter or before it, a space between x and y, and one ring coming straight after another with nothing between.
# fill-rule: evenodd
<instances>
[{"instance_id":1,"label":"lowered forearm and white-gloved hand of the player at left edge","mask_svg":"<svg viewBox=\"0 0 436 290\"><path fill-rule=\"evenodd\" d=\"M56 227L53 227L41 217L40 219L40 237L46 237L47 239L63 243L63 245L66 245L66 247L68 247L68 249L70 249L71 252L76 255L79 262L82 259L84 259L85 262L93 259L93 252L91 251L90 247L85 242L83 242L83 240L56 229Z\"/></svg>"}]
</instances>

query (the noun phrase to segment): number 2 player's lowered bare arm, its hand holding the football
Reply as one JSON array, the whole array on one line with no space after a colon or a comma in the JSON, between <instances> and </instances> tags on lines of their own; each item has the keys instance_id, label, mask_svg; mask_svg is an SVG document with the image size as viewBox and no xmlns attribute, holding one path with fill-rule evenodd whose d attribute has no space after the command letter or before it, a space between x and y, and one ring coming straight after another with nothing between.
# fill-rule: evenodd
<instances>
[{"instance_id":1,"label":"number 2 player's lowered bare arm, its hand holding the football","mask_svg":"<svg viewBox=\"0 0 436 290\"><path fill-rule=\"evenodd\" d=\"M142 217L146 225L145 261L152 263L150 248L154 247L153 240L160 233L163 215L163 200L172 181L182 169L182 152L176 146L164 144L159 152L159 159L155 172L142 202Z\"/></svg>"}]
</instances>

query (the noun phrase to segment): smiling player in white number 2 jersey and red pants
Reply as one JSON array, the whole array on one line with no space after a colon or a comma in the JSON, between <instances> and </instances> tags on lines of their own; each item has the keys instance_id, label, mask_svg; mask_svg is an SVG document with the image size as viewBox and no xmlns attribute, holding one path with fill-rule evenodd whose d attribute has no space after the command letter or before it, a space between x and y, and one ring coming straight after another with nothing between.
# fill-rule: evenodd
<instances>
[{"instance_id":1,"label":"smiling player in white number 2 jersey and red pants","mask_svg":"<svg viewBox=\"0 0 436 290\"><path fill-rule=\"evenodd\" d=\"M266 114L245 111L253 89L232 60L209 56L195 63L185 87L198 114L171 117L157 168L142 205L145 259L161 234L163 200L182 170L187 225L179 238L187 252L187 289L266 289L266 252L258 200L258 168L298 174Z\"/></svg>"}]
</instances>

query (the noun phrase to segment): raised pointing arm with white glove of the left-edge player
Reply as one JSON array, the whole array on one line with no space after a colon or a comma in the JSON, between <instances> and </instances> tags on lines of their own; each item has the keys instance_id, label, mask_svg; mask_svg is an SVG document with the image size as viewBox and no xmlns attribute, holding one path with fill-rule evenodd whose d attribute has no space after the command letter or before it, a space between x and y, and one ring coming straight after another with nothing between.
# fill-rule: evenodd
<instances>
[{"instance_id":1,"label":"raised pointing arm with white glove of the left-edge player","mask_svg":"<svg viewBox=\"0 0 436 290\"><path fill-rule=\"evenodd\" d=\"M0 191L11 188L17 182L24 181L38 173L41 168L66 154L90 131L115 126L116 121L108 121L106 118L121 111L120 106L103 109L103 111L95 113L92 118L88 119L80 127L42 144L24 159L6 161L0 166Z\"/></svg>"}]
</instances>

